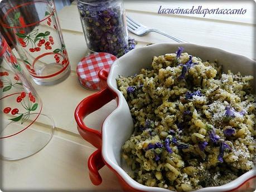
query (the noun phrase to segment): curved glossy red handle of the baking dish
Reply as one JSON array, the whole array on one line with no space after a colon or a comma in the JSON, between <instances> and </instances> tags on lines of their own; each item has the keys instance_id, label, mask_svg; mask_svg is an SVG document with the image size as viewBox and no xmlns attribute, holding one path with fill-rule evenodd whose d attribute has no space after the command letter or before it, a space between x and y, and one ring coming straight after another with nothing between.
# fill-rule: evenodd
<instances>
[{"instance_id":1,"label":"curved glossy red handle of the baking dish","mask_svg":"<svg viewBox=\"0 0 256 192\"><path fill-rule=\"evenodd\" d=\"M98 148L98 150L93 152L88 159L89 177L91 183L94 185L102 183L102 177L99 175L99 170L105 165L102 158L102 132L87 127L84 118L116 97L115 93L107 87L108 72L100 70L99 74L102 91L86 97L75 109L75 120L78 125L79 134L86 141L90 142L91 145Z\"/></svg>"}]
</instances>

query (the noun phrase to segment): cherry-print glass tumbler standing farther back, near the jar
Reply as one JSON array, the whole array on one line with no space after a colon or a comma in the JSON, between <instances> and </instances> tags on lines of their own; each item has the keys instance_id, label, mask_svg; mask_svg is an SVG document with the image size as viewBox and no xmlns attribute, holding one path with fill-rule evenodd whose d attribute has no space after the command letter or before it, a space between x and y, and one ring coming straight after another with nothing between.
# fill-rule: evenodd
<instances>
[{"instance_id":1,"label":"cherry-print glass tumbler standing farther back, near the jar","mask_svg":"<svg viewBox=\"0 0 256 192\"><path fill-rule=\"evenodd\" d=\"M70 73L69 58L52 0L1 2L2 26L38 85L52 85Z\"/></svg>"}]
</instances>

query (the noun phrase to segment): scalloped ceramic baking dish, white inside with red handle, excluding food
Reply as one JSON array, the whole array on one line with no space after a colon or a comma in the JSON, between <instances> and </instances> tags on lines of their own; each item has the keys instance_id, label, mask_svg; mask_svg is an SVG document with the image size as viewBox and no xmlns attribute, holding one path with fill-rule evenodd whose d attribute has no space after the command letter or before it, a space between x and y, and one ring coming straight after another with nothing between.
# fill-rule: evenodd
<instances>
[{"instance_id":1,"label":"scalloped ceramic baking dish, white inside with red handle, excluding food","mask_svg":"<svg viewBox=\"0 0 256 192\"><path fill-rule=\"evenodd\" d=\"M107 165L118 177L124 191L169 191L167 189L144 186L133 180L126 171L129 169L120 156L122 145L133 132L133 120L129 107L122 93L117 89L116 78L119 75L131 76L138 73L141 68L148 68L153 56L174 53L178 46L185 48L191 55L199 56L202 60L218 60L222 63L224 72L229 69L241 72L242 75L256 76L255 61L245 56L226 52L214 47L205 47L190 43L158 43L155 45L137 48L120 57L110 68L109 74L102 70L99 72L102 91L86 97L75 110L75 120L80 135L89 141L96 150L88 160L91 182L99 185L102 178L98 170ZM256 83L253 82L254 92ZM117 101L117 108L105 119L102 131L90 129L86 126L84 118L91 112L100 109L111 100ZM255 189L255 169L241 175L239 178L222 186L202 188L197 191L253 191Z\"/></svg>"}]
</instances>

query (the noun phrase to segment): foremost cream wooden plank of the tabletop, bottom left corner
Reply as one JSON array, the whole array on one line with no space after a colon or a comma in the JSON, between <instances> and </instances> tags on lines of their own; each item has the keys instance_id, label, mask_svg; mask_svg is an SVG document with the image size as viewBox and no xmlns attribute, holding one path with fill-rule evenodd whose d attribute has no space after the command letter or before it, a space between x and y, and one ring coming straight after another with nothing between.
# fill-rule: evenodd
<instances>
[{"instance_id":1,"label":"foremost cream wooden plank of the tabletop, bottom left corner","mask_svg":"<svg viewBox=\"0 0 256 192\"><path fill-rule=\"evenodd\" d=\"M92 147L86 141L65 139L65 134L55 132L49 144L35 155L17 161L1 161L3 191L114 191L119 190L117 178L106 166L100 170L103 183L91 184L87 161ZM72 139L67 135L68 139Z\"/></svg>"}]
</instances>

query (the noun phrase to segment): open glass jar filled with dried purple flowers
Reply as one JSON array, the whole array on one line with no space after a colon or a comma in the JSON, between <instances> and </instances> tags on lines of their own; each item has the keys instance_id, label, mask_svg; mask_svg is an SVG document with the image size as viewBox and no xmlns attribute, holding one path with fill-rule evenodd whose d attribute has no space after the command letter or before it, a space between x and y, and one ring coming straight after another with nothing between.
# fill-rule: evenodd
<instances>
[{"instance_id":1,"label":"open glass jar filled with dried purple flowers","mask_svg":"<svg viewBox=\"0 0 256 192\"><path fill-rule=\"evenodd\" d=\"M122 0L78 0L87 46L92 52L116 57L128 50L128 31Z\"/></svg>"}]
</instances>

